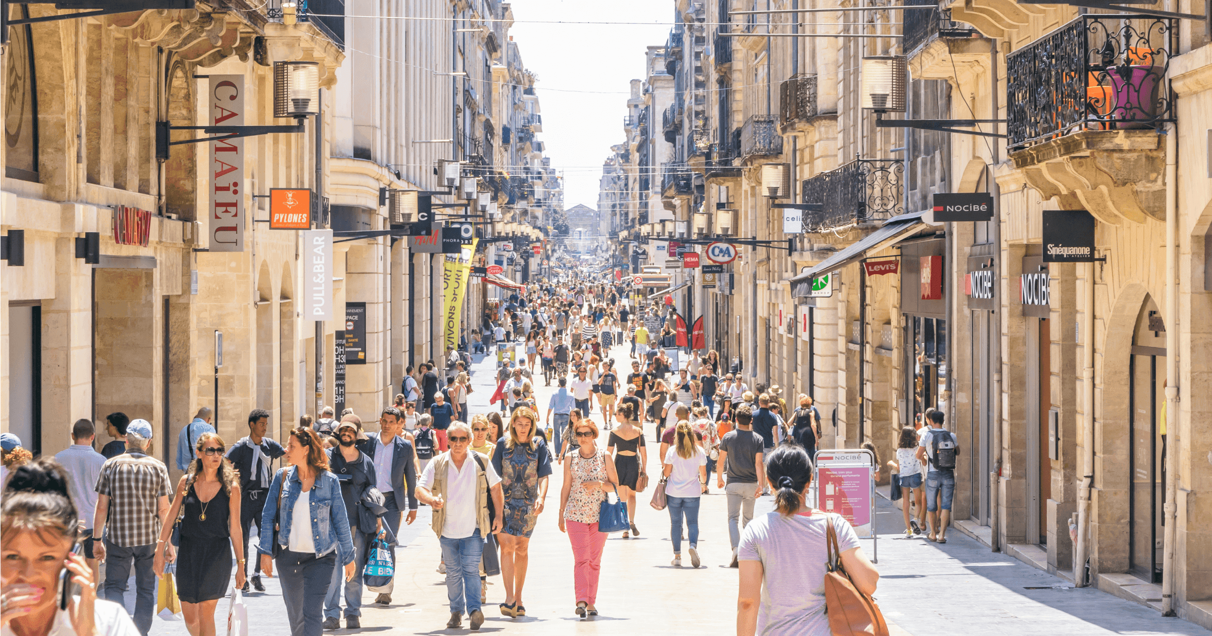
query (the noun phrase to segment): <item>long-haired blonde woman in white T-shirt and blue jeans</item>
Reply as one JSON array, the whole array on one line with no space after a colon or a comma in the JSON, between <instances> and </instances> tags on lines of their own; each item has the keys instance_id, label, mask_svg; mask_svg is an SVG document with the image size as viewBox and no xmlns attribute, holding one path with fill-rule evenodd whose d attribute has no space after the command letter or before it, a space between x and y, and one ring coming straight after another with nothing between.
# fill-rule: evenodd
<instances>
[{"instance_id":1,"label":"long-haired blonde woman in white T-shirt and blue jeans","mask_svg":"<svg viewBox=\"0 0 1212 636\"><path fill-rule=\"evenodd\" d=\"M690 422L679 420L674 430L674 443L665 452L664 462L669 537L674 544L674 560L670 565L681 567L681 528L685 516L690 533L690 563L698 567L698 499L707 483L707 455L696 443L694 429Z\"/></svg>"}]
</instances>

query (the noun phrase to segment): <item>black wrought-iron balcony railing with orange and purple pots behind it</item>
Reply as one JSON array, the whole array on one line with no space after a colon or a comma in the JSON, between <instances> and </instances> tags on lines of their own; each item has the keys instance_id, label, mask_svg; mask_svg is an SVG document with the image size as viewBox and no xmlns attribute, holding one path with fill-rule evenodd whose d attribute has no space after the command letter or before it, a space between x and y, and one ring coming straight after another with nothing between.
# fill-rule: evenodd
<instances>
[{"instance_id":1,"label":"black wrought-iron balcony railing with orange and purple pots behind it","mask_svg":"<svg viewBox=\"0 0 1212 636\"><path fill-rule=\"evenodd\" d=\"M1166 81L1178 19L1079 16L1006 57L1011 150L1079 131L1174 121Z\"/></svg>"}]
</instances>

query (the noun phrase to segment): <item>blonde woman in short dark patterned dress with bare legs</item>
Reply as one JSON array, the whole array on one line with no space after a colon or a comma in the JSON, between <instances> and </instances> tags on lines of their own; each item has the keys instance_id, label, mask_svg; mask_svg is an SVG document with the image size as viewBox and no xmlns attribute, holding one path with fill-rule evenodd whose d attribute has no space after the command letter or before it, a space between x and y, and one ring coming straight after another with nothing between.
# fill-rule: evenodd
<instances>
[{"instance_id":1,"label":"blonde woman in short dark patterned dress with bare legs","mask_svg":"<svg viewBox=\"0 0 1212 636\"><path fill-rule=\"evenodd\" d=\"M551 474L551 454L547 437L538 431L538 416L528 407L514 409L509 417L509 434L492 453L492 468L501 475L504 495L504 521L497 540L501 542L501 578L505 586L505 602L501 614L525 617L522 586L530 563L530 537L534 522L543 512L547 482Z\"/></svg>"}]
</instances>

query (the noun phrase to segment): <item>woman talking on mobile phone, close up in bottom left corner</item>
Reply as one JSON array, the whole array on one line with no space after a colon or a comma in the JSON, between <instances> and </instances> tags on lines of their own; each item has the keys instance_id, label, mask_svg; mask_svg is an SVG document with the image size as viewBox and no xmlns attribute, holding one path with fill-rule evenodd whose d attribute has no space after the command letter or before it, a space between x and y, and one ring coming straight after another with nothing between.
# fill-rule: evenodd
<instances>
[{"instance_id":1,"label":"woman talking on mobile phone, close up in bottom left corner","mask_svg":"<svg viewBox=\"0 0 1212 636\"><path fill-rule=\"evenodd\" d=\"M12 471L0 505L0 634L139 636L126 608L97 598L88 562L73 551L79 520L68 474L53 459Z\"/></svg>"}]
</instances>

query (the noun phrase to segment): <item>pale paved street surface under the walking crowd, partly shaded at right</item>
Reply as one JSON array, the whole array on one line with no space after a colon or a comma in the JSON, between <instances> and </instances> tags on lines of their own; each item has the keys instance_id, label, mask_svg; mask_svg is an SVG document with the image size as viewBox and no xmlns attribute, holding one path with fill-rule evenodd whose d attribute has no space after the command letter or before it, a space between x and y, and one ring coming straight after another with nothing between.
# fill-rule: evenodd
<instances>
[{"instance_id":1,"label":"pale paved street surface under the walking crowd, partly shaded at right","mask_svg":"<svg viewBox=\"0 0 1212 636\"><path fill-rule=\"evenodd\" d=\"M616 367L629 366L624 348L613 350ZM479 357L479 356L478 356ZM470 396L474 412L482 412L496 389L491 356L475 365ZM553 388L537 377L542 416ZM554 384L554 383L553 383ZM373 422L370 413L362 419ZM601 413L591 416L599 423ZM654 471L656 443L650 426L648 469ZM605 439L602 439L605 443ZM702 502L699 552L703 567L675 568L669 565L668 514L647 505L641 494L638 527L641 535L622 539L614 534L602 557L598 608L601 615L581 620L573 614L572 550L556 527L560 500L560 468L551 476L547 510L539 517L531 542L530 571L524 602L527 617L509 619L497 611L504 600L499 577L490 578L487 621L481 632L508 631L526 635L568 634L661 634L663 636L733 634L736 620L737 571L727 568L730 557L726 502L714 488ZM771 498L759 502L758 514L768 511ZM893 635L913 636L1087 636L1110 634L1210 635L1207 630L1173 618L1161 618L1143 606L1093 589L1073 589L1062 579L1012 557L991 554L988 548L960 532L949 532L945 545L925 539L898 538L901 512L879 499L877 525L880 585L876 598ZM362 609L365 632L461 634L446 630L446 585L436 572L438 540L429 529L429 508L422 508L416 523L401 532L394 602L388 608ZM871 555L871 542L863 540ZM288 635L286 612L278 579L264 579L267 591L247 596L250 634ZM133 590L133 581L131 585ZM128 606L133 607L133 595ZM375 595L366 594L365 600ZM224 634L227 601L219 601L216 619ZM464 625L467 620L464 619ZM184 623L156 618L155 635L185 636ZM336 634L351 634L339 630Z\"/></svg>"}]
</instances>

